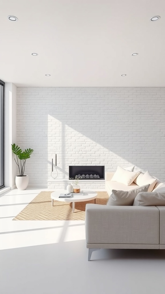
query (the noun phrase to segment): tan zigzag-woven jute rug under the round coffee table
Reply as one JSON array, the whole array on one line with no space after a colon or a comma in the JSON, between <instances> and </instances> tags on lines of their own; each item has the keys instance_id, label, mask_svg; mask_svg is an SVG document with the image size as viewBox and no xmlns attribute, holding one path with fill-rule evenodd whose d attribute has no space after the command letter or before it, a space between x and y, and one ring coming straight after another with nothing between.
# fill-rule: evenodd
<instances>
[{"instance_id":1,"label":"tan zigzag-woven jute rug under the round coffee table","mask_svg":"<svg viewBox=\"0 0 165 294\"><path fill-rule=\"evenodd\" d=\"M85 220L85 205L95 200L76 202L75 212L72 212L72 203L52 201L52 191L40 192L13 220ZM106 205L109 199L105 191L96 192L96 204Z\"/></svg>"}]
</instances>

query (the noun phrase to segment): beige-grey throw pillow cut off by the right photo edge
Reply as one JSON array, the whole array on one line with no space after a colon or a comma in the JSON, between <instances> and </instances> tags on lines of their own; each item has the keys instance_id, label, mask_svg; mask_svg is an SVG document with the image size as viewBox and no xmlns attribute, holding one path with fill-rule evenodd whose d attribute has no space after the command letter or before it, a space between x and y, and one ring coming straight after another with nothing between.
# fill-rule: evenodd
<instances>
[{"instance_id":1,"label":"beige-grey throw pillow cut off by the right photo edge","mask_svg":"<svg viewBox=\"0 0 165 294\"><path fill-rule=\"evenodd\" d=\"M133 206L165 206L165 192L140 192Z\"/></svg>"}]
</instances>

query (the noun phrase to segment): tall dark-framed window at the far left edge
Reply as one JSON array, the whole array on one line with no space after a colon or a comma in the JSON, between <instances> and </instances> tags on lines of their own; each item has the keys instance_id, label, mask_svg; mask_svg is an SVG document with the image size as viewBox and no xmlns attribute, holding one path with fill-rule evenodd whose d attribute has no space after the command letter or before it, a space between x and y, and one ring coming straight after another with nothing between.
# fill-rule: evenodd
<instances>
[{"instance_id":1,"label":"tall dark-framed window at the far left edge","mask_svg":"<svg viewBox=\"0 0 165 294\"><path fill-rule=\"evenodd\" d=\"M0 80L0 189L4 185L4 86Z\"/></svg>"}]
</instances>

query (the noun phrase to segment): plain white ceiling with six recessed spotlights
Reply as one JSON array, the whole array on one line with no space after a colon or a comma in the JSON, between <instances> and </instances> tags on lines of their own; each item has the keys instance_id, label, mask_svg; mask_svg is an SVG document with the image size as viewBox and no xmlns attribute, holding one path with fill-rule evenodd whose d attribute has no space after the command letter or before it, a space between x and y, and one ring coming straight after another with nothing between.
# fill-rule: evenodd
<instances>
[{"instance_id":1,"label":"plain white ceiling with six recessed spotlights","mask_svg":"<svg viewBox=\"0 0 165 294\"><path fill-rule=\"evenodd\" d=\"M164 0L1 0L0 27L16 86L165 86Z\"/></svg>"}]
</instances>

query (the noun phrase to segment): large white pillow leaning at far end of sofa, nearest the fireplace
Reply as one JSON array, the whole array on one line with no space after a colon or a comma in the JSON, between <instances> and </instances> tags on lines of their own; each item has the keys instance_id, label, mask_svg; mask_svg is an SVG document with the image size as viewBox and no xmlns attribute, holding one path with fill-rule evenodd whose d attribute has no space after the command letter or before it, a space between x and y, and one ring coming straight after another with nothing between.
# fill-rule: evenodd
<instances>
[{"instance_id":1,"label":"large white pillow leaning at far end of sofa, nearest the fireplace","mask_svg":"<svg viewBox=\"0 0 165 294\"><path fill-rule=\"evenodd\" d=\"M126 171L124 168L118 166L111 181L123 183L127 186L131 185L140 172Z\"/></svg>"}]
</instances>

